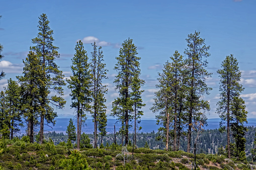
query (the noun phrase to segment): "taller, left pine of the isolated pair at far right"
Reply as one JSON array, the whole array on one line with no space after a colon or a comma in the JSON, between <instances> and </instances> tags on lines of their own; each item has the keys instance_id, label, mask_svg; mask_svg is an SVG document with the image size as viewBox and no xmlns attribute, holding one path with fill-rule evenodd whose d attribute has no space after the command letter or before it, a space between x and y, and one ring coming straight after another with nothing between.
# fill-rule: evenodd
<instances>
[{"instance_id":1,"label":"taller, left pine of the isolated pair at far right","mask_svg":"<svg viewBox=\"0 0 256 170\"><path fill-rule=\"evenodd\" d=\"M242 114L240 118L242 123L244 122L244 120L246 121L246 113L244 112L245 106L243 103L241 103L243 101L238 98L244 88L241 84L239 84L241 72L239 71L238 62L232 54L230 56L227 56L226 59L222 62L221 68L222 69L219 69L217 71L220 77L220 101L217 103L217 113L221 118L220 130L224 131L224 129L227 128L227 155L228 158L230 158L231 122L235 121L234 118L236 117L238 123L240 124L240 121L238 119L239 117L237 117L239 115L237 114ZM240 107L244 108L235 108L235 105L237 104L241 105Z\"/></svg>"}]
</instances>

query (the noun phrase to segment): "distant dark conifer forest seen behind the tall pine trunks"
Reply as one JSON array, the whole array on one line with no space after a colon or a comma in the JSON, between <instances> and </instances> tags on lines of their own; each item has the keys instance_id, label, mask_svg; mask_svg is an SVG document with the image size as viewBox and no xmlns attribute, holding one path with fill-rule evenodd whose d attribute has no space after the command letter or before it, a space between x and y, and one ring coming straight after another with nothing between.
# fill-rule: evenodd
<instances>
[{"instance_id":1,"label":"distant dark conifer forest seen behind the tall pine trunks","mask_svg":"<svg viewBox=\"0 0 256 170\"><path fill-rule=\"evenodd\" d=\"M246 153L246 159L247 161L252 160L252 154L251 150L255 147L253 144L253 138L255 135L256 127L248 127L248 131L245 133L244 137L248 140L246 140L245 143L245 153ZM87 134L90 138L90 143L92 144L94 141L94 134ZM150 133L138 133L137 134L137 147L148 147L150 149L164 149L165 144L161 140L156 140L157 136L159 135L159 132L150 132ZM20 138L23 136L20 136ZM117 145L122 145L122 136L116 135L116 143ZM128 145L133 145L133 137L134 134L129 133L129 142ZM52 139L54 144L57 145L61 142L68 142L68 135L61 133L56 133L55 131L45 133L45 139L49 140ZM115 135L107 134L103 137L102 141L101 139L97 140L97 146L100 147L101 143L103 143L103 146L110 146L114 143ZM192 145L194 144L195 139L197 138L197 133L192 133ZM233 140L231 140L233 142ZM107 144L108 143L108 144ZM187 149L187 141L181 140L180 150L186 151ZM196 153L205 153L205 154L218 154L223 155L225 153L224 146L227 143L227 133L221 133L219 129L207 129L203 130L200 135L198 136L197 140L197 147L196 147ZM75 145L75 143L73 143ZM147 145L147 146L146 146Z\"/></svg>"}]
</instances>

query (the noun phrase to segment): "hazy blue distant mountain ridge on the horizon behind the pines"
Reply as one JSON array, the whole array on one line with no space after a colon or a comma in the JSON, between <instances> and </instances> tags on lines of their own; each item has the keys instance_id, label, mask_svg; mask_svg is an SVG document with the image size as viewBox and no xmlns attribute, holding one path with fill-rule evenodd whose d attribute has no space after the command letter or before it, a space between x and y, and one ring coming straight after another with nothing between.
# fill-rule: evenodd
<instances>
[{"instance_id":1,"label":"hazy blue distant mountain ridge on the horizon behind the pines","mask_svg":"<svg viewBox=\"0 0 256 170\"><path fill-rule=\"evenodd\" d=\"M55 132L66 132L66 128L68 126L68 122L69 122L70 118L56 118L56 124L53 126L53 128L50 128L48 126L45 126L45 130L46 131L55 131ZM213 118L213 119L208 119L208 126L205 127L205 129L216 129L219 128L219 122L220 122L220 118ZM76 123L75 123L75 119L74 121L74 125L76 127ZM245 123L246 126L256 126L256 118L248 118L247 119L248 123ZM134 124L134 122L130 122L131 124ZM116 119L108 119L107 122L107 127L106 130L108 133L113 133L114 132L114 124L116 125L116 131L119 130L119 128L121 127L121 125L119 123L116 123ZM157 129L160 127L159 125L156 125L156 120L141 120L141 123L139 124L139 126L142 127L142 129L140 131L138 131L139 133L143 132L143 133L149 133L152 131L157 132ZM132 131L134 126L132 126L132 128L129 129L129 131L132 133ZM26 127L21 128L21 133L25 134L26 133ZM92 119L87 119L86 120L86 125L82 126L82 132L85 133L93 133L94 132L94 123Z\"/></svg>"}]
</instances>

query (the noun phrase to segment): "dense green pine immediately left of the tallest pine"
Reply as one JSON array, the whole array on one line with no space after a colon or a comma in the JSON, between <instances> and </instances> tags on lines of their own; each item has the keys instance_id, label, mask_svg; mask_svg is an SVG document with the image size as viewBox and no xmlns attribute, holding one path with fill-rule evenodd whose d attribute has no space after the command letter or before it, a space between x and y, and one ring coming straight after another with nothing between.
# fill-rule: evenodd
<instances>
[{"instance_id":1,"label":"dense green pine immediately left of the tallest pine","mask_svg":"<svg viewBox=\"0 0 256 170\"><path fill-rule=\"evenodd\" d=\"M18 82L21 84L21 113L27 123L27 135L30 142L34 142L34 127L36 127L39 117L40 101L39 84L40 84L40 58L32 51L23 61L23 76L18 76Z\"/></svg>"}]
</instances>

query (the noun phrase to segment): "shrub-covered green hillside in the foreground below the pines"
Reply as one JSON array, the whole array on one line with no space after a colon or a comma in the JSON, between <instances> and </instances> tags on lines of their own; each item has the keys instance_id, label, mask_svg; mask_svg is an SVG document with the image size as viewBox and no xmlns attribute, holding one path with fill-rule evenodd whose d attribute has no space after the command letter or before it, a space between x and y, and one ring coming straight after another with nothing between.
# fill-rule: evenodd
<instances>
[{"instance_id":1,"label":"shrub-covered green hillside in the foreground below the pines","mask_svg":"<svg viewBox=\"0 0 256 170\"><path fill-rule=\"evenodd\" d=\"M2 169L191 169L194 155L184 151L121 147L110 145L97 149L72 149L66 143L52 140L38 143L1 140ZM71 148L70 148L71 147ZM125 155L125 159L123 157ZM125 161L125 163L124 163ZM197 169L253 169L254 164L236 162L223 155L197 154Z\"/></svg>"}]
</instances>

